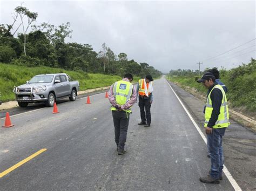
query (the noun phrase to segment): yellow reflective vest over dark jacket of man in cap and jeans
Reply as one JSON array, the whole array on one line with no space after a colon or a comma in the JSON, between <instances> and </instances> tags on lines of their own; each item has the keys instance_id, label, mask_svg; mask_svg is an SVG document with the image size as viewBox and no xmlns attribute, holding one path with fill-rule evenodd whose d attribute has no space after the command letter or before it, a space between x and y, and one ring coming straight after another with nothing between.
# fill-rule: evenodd
<instances>
[{"instance_id":1,"label":"yellow reflective vest over dark jacket of man in cap and jeans","mask_svg":"<svg viewBox=\"0 0 256 191\"><path fill-rule=\"evenodd\" d=\"M230 117L228 115L227 98L226 98L226 93L223 90L223 87L221 87L221 85L215 85L212 88L211 92L208 94L207 101L206 101L206 108L205 108L205 125L204 126L207 127L207 124L212 115L213 107L212 107L211 93L214 88L218 88L219 90L221 90L223 94L223 99L221 100L219 117L215 122L215 125L213 126L213 128L228 127L230 125L230 120L229 120Z\"/></svg>"}]
</instances>

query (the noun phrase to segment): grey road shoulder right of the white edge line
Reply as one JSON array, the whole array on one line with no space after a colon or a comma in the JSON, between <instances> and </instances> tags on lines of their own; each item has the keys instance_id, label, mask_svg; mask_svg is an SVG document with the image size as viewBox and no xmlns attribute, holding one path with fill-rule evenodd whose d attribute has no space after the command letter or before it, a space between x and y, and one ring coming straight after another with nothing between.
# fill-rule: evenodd
<instances>
[{"instance_id":1,"label":"grey road shoulder right of the white edge line","mask_svg":"<svg viewBox=\"0 0 256 191\"><path fill-rule=\"evenodd\" d=\"M188 111L191 113L197 124L204 130L204 101L194 97L191 93L171 83L170 85L183 101ZM204 132L204 131L203 131ZM231 126L228 127L223 139L225 165L230 170L234 179L238 182L242 190L256 189L256 139L255 134L246 127L231 120ZM252 168L252 165L254 166Z\"/></svg>"}]
</instances>

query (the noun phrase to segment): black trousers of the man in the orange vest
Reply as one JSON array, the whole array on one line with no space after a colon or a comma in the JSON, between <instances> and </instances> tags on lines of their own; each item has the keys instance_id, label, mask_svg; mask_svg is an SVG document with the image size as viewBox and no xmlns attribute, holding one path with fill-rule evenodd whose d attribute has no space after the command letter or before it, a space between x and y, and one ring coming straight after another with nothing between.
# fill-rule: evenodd
<instances>
[{"instance_id":1,"label":"black trousers of the man in the orange vest","mask_svg":"<svg viewBox=\"0 0 256 191\"><path fill-rule=\"evenodd\" d=\"M139 108L140 108L140 118L142 118L142 122L147 122L147 124L151 124L151 113L150 113L150 99L141 97L139 95ZM145 114L146 109L146 114Z\"/></svg>"}]
</instances>

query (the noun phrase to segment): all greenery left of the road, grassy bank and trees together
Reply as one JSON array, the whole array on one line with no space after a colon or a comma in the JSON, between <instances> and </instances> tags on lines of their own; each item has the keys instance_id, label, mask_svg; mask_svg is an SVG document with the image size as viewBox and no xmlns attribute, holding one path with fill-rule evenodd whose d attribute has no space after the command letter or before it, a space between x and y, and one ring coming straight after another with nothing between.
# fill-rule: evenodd
<instances>
[{"instance_id":1,"label":"all greenery left of the road, grassy bank and trees together","mask_svg":"<svg viewBox=\"0 0 256 191\"><path fill-rule=\"evenodd\" d=\"M12 16L13 23L0 24L2 101L14 100L14 85L24 84L42 73L68 73L79 81L80 90L109 86L125 73L137 76L134 81L146 74L161 76L160 71L147 63L128 60L124 52L114 54L105 43L98 53L89 44L65 43L72 35L69 22L59 26L37 25L38 14L24 6L17 6ZM15 29L18 22L20 25ZM23 30L16 34L20 26Z\"/></svg>"}]
</instances>

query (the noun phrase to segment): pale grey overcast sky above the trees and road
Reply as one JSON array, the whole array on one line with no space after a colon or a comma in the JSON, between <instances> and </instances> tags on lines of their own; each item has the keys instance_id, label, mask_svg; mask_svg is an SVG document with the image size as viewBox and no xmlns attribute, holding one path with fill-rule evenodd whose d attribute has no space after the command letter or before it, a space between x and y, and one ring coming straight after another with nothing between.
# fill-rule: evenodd
<instances>
[{"instance_id":1,"label":"pale grey overcast sky above the trees and road","mask_svg":"<svg viewBox=\"0 0 256 191\"><path fill-rule=\"evenodd\" d=\"M16 6L38 12L37 24L70 22L66 42L105 42L115 54L146 62L162 72L224 66L255 58L255 1L3 1L0 23L12 23ZM241 44L238 49L215 59ZM218 58L218 59L216 59Z\"/></svg>"}]
</instances>

